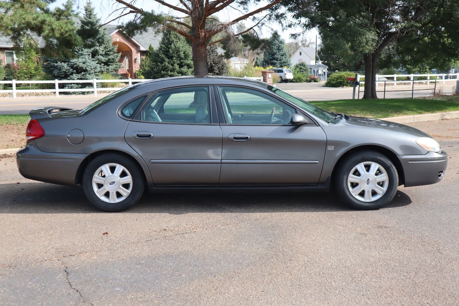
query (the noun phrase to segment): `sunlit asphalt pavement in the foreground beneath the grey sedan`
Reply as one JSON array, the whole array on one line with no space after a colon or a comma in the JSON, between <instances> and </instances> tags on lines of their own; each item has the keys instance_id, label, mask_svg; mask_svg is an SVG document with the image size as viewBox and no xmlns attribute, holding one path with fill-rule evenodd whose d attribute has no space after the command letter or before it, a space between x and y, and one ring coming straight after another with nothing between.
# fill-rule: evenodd
<instances>
[{"instance_id":1,"label":"sunlit asphalt pavement in the foreground beneath the grey sedan","mask_svg":"<svg viewBox=\"0 0 459 306\"><path fill-rule=\"evenodd\" d=\"M458 305L459 120L412 125L450 154L445 178L374 211L171 193L105 213L2 158L0 305Z\"/></svg>"}]
</instances>

